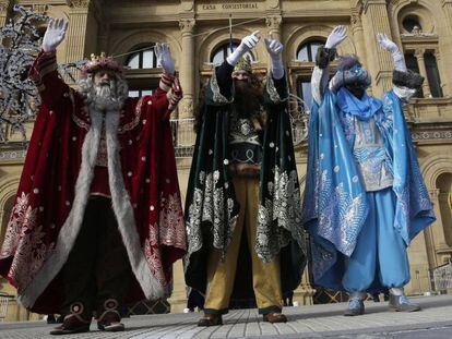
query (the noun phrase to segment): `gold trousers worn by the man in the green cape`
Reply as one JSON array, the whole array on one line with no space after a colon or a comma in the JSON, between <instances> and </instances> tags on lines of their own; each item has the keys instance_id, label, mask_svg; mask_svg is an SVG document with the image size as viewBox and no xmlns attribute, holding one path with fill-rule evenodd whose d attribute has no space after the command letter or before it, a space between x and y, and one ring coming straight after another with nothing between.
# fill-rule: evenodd
<instances>
[{"instance_id":1,"label":"gold trousers worn by the man in the green cape","mask_svg":"<svg viewBox=\"0 0 452 339\"><path fill-rule=\"evenodd\" d=\"M206 314L224 314L228 311L243 227L251 255L252 284L259 313L281 312L283 298L281 290L279 255L272 262L264 263L258 257L254 250L259 205L259 178L234 177L233 183L236 191L236 198L240 204L240 214L236 229L234 230L233 240L227 247L225 259L222 261L221 251L213 250L210 253L204 312Z\"/></svg>"}]
</instances>

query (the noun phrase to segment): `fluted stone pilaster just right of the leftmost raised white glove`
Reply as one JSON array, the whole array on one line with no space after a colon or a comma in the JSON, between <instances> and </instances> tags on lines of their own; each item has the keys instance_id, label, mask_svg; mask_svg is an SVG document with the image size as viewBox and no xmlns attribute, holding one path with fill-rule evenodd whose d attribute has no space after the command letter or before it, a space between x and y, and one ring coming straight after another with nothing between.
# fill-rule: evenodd
<instances>
[{"instance_id":1,"label":"fluted stone pilaster just right of the leftmost raised white glove","mask_svg":"<svg viewBox=\"0 0 452 339\"><path fill-rule=\"evenodd\" d=\"M67 0L70 7L67 33L66 62L83 59L86 56L86 25L92 0Z\"/></svg>"}]
</instances>

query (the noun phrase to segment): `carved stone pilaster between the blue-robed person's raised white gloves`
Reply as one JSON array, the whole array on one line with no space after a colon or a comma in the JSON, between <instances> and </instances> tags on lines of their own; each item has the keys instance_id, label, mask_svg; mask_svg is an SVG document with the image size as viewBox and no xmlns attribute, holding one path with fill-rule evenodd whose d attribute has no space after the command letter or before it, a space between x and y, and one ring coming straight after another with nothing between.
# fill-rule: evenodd
<instances>
[{"instance_id":1,"label":"carved stone pilaster between the blue-robed person's raised white gloves","mask_svg":"<svg viewBox=\"0 0 452 339\"><path fill-rule=\"evenodd\" d=\"M373 76L372 92L376 96L392 87L392 58L377 41L377 34L383 33L391 38L391 27L388 19L385 0L368 0L362 7L362 28L368 69ZM371 52L370 52L371 51Z\"/></svg>"}]
</instances>

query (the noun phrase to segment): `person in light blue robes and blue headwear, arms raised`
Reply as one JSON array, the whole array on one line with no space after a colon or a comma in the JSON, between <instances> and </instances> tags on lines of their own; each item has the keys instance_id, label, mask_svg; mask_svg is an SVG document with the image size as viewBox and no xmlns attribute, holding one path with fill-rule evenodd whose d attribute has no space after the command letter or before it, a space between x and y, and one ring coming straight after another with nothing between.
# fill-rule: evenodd
<instances>
[{"instance_id":1,"label":"person in light blue robes and blue headwear, arms raised","mask_svg":"<svg viewBox=\"0 0 452 339\"><path fill-rule=\"evenodd\" d=\"M328 86L332 53L319 51L312 77L302 219L314 284L350 293L401 288L409 281L406 247L435 221L402 110L415 90L394 81L381 100L355 95L353 86L370 84L358 61Z\"/></svg>"}]
</instances>

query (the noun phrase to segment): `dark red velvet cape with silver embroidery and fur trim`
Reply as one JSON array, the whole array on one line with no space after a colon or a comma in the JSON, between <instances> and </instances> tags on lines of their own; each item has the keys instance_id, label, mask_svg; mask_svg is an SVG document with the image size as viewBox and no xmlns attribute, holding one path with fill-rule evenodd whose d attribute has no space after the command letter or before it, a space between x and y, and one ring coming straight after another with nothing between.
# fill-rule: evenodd
<instances>
[{"instance_id":1,"label":"dark red velvet cape with silver embroidery and fur trim","mask_svg":"<svg viewBox=\"0 0 452 339\"><path fill-rule=\"evenodd\" d=\"M43 105L0 252L0 275L17 288L26 307L37 313L57 313L62 289L56 270L61 265L52 267L49 263L60 263L62 259L58 256L67 255L68 249L61 244L66 239L60 233L64 223L64 232L71 233L68 221L71 209L73 205L83 205L74 201L75 186L82 167L82 147L92 121L83 98L56 71L55 53L41 52L31 76L39 88ZM171 280L171 264L186 251L168 104L160 88L140 100L129 98L117 126L119 161L127 191L122 198L126 203L130 201L128 204L133 209L133 214L124 213L134 219L134 226L127 227L129 233L139 237L141 249L134 250L136 256L145 258L141 259L145 265L138 268L141 269L140 275L135 274L138 283L133 284L129 301L162 296L154 290L145 291L140 280L151 279L145 276L151 271L151 280L158 281L164 290ZM83 208L73 213L73 218L83 219L81 213Z\"/></svg>"}]
</instances>

